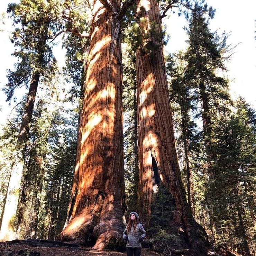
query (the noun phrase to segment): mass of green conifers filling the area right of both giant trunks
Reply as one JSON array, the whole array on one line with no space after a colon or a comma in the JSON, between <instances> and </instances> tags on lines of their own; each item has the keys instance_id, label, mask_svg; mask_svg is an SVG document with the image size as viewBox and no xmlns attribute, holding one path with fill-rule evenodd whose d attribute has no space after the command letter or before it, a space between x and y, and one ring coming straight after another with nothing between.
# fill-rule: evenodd
<instances>
[{"instance_id":1,"label":"mass of green conifers filling the area right of both giant trunks","mask_svg":"<svg viewBox=\"0 0 256 256\"><path fill-rule=\"evenodd\" d=\"M246 180L251 184L255 174L246 170L255 170L255 152L247 153L254 144L255 117L242 99L232 107L228 81L219 75L220 71L225 72L223 63L230 51L227 36L212 33L208 25L207 13L195 4L186 30L188 48L170 58L167 65L180 134L178 152L186 167L188 201L211 243L225 244L234 250L234 244L239 244L239 251L250 255L255 241L247 219L254 220L255 204L251 198L253 188ZM247 141L248 148L243 141ZM250 159L242 157L246 155ZM196 188L194 199L190 179Z\"/></svg>"}]
</instances>

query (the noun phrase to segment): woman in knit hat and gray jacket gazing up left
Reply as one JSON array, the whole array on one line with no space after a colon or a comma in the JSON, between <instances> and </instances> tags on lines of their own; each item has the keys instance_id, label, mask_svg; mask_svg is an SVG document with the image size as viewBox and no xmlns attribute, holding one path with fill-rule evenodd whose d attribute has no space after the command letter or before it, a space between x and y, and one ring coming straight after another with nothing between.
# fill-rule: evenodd
<instances>
[{"instance_id":1,"label":"woman in knit hat and gray jacket gazing up left","mask_svg":"<svg viewBox=\"0 0 256 256\"><path fill-rule=\"evenodd\" d=\"M127 256L140 256L141 242L146 237L146 231L138 223L139 216L136 212L129 214L128 224L124 231L124 239L127 241Z\"/></svg>"}]
</instances>

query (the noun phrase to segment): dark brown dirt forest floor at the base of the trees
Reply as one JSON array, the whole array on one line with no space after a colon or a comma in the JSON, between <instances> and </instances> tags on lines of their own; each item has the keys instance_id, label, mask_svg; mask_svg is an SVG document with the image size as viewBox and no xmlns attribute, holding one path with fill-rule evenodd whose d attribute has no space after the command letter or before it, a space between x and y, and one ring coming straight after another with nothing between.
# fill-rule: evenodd
<instances>
[{"instance_id":1,"label":"dark brown dirt forest floor at the base of the trees","mask_svg":"<svg viewBox=\"0 0 256 256\"><path fill-rule=\"evenodd\" d=\"M126 252L114 252L111 250L94 250L92 248L80 247L74 243L63 243L51 240L13 240L0 243L0 256L125 256ZM176 254L171 254L176 255ZM182 253L179 255L190 256L191 254ZM208 251L208 255L216 256L236 256L227 250L214 249ZM141 256L163 256L149 248L141 249Z\"/></svg>"}]
</instances>

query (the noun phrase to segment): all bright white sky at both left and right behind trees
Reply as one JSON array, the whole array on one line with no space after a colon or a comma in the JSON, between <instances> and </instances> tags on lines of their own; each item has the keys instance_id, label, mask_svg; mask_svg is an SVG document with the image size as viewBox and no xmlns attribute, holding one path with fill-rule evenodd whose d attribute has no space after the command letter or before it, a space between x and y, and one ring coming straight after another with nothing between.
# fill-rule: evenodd
<instances>
[{"instance_id":1,"label":"all bright white sky at both left and right behind trees","mask_svg":"<svg viewBox=\"0 0 256 256\"><path fill-rule=\"evenodd\" d=\"M15 0L1 0L0 14L6 11L9 2L15 2ZM210 20L212 31L219 29L219 33L230 32L227 44L240 43L227 63L231 92L244 97L256 109L256 40L254 39L256 1L249 1L246 7L242 6L239 0L207 0L207 2L209 6L216 9L214 19ZM171 34L168 52L176 52L184 48L186 39L185 31L182 29L184 26L186 23L183 18L171 16L170 27L168 27ZM5 25L0 24L0 30L4 30L0 31L0 106L2 106L0 122L4 122L11 109L5 102L6 96L1 88L7 83L6 70L13 69L13 63L16 61L11 56L14 47L9 41L10 31L13 30L11 20L8 20Z\"/></svg>"}]
</instances>

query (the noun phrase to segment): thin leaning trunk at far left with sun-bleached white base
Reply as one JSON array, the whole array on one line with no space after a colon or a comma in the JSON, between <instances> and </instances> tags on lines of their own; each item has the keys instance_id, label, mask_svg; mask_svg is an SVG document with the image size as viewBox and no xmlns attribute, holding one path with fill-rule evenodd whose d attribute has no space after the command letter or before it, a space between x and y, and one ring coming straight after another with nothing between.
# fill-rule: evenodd
<instances>
[{"instance_id":1,"label":"thin leaning trunk at far left with sun-bleached white base","mask_svg":"<svg viewBox=\"0 0 256 256\"><path fill-rule=\"evenodd\" d=\"M16 162L12 165L8 191L4 203L4 209L1 216L0 241L15 239L15 219L21 188L21 178L24 166L24 151L28 141L29 127L32 119L36 91L39 82L39 74L32 76L27 102L22 117L19 135L17 139L17 157Z\"/></svg>"}]
</instances>

